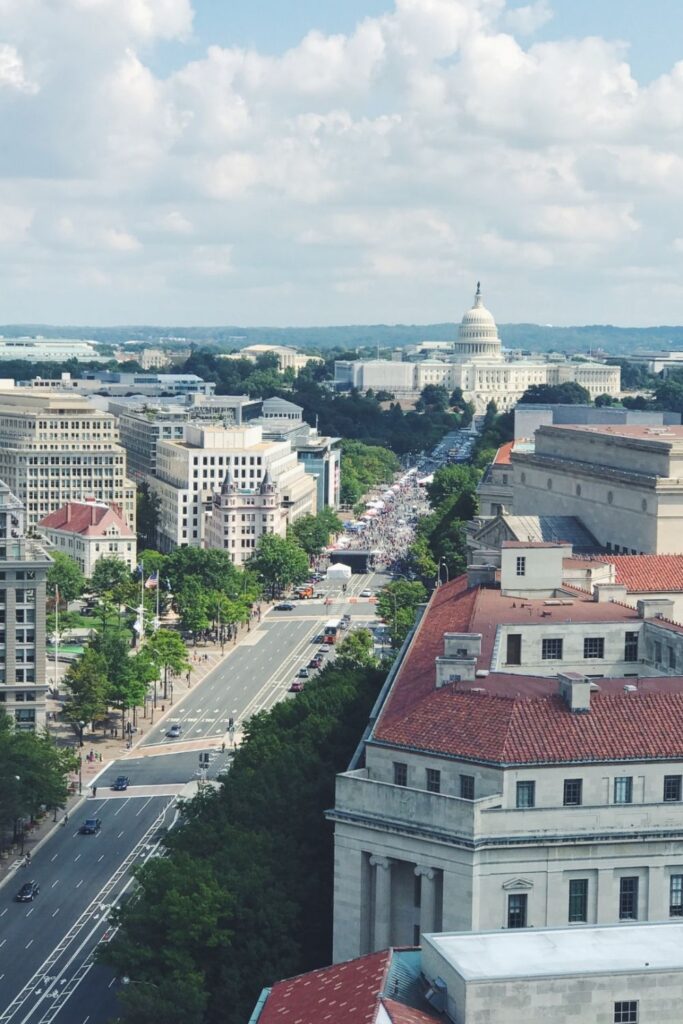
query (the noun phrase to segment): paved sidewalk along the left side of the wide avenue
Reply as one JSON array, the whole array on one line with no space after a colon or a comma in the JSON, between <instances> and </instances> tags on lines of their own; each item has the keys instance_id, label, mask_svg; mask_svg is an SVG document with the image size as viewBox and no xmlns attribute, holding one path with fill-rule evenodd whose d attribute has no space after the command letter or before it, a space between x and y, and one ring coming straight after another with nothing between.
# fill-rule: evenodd
<instances>
[{"instance_id":1,"label":"paved sidewalk along the left side of the wide avenue","mask_svg":"<svg viewBox=\"0 0 683 1024\"><path fill-rule=\"evenodd\" d=\"M269 605L263 608L261 618L254 620L251 624L252 631L258 629L269 610ZM220 644L202 642L196 647L188 647L187 654L191 669L189 684L186 683L184 676L175 678L173 680L173 703L171 703L171 700L164 700L158 695L157 708L153 710L150 707L147 716L138 711L136 715L137 731L132 733L128 741L122 734L121 713L116 711L112 712L108 717L108 721L111 723L110 729L115 730L115 734L110 735L108 734L108 730L102 731L101 729L97 732L84 733L83 746L79 749L78 737L73 726L59 718L61 712L60 701L48 697L48 716L54 716L50 717L48 721L50 735L58 745L71 746L77 755L81 753L81 771L78 774L75 773L73 776L72 786L74 792L68 798L66 807L59 808L56 812L50 810L42 818L34 822L33 826L27 828L24 837L24 857L26 857L27 853L31 853L33 856L47 842L50 836L65 824L66 817L71 819L74 816L86 800L90 798L93 782L113 761L118 761L121 757L130 754L131 751L134 751L138 746L144 738L144 733L152 727L153 717L155 725L164 718L172 718L174 708L180 703L185 693L188 693L198 683L206 679L209 673L223 662L230 651L234 650L249 635L250 631L246 626L240 627L237 640L224 644L222 654ZM163 692L163 685L161 691ZM151 706L152 701L147 701L147 703ZM130 745L128 745L129 742ZM206 744L206 740L204 742ZM9 850L6 856L0 856L0 886L22 868L24 857L20 851L22 846L17 843ZM27 868L22 873L22 881L27 881L30 878L31 870ZM18 881L19 879L17 878Z\"/></svg>"}]
</instances>

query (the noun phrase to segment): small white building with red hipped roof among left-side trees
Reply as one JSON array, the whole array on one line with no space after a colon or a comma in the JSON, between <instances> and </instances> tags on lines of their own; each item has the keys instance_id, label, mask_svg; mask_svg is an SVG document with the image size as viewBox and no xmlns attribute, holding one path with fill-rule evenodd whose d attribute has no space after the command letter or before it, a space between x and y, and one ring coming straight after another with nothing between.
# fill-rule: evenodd
<instances>
[{"instance_id":1,"label":"small white building with red hipped roof among left-side trees","mask_svg":"<svg viewBox=\"0 0 683 1024\"><path fill-rule=\"evenodd\" d=\"M86 580L100 558L120 558L131 572L137 565L137 535L118 505L67 502L41 519L37 529L55 551L77 562Z\"/></svg>"}]
</instances>

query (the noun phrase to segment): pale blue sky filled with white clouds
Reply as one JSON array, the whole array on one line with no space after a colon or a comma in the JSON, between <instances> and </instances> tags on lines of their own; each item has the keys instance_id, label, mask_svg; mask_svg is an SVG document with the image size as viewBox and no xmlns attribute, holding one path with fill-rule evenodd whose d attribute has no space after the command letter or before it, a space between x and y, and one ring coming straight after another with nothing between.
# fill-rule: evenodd
<instances>
[{"instance_id":1,"label":"pale blue sky filled with white clouds","mask_svg":"<svg viewBox=\"0 0 683 1024\"><path fill-rule=\"evenodd\" d=\"M682 194L680 0L0 0L0 323L681 324Z\"/></svg>"}]
</instances>

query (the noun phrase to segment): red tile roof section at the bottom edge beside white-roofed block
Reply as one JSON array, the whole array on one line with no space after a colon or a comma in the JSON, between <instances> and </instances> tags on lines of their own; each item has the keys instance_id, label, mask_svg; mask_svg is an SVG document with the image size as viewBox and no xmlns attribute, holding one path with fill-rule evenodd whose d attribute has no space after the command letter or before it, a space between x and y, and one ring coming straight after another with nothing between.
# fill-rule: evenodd
<instances>
[{"instance_id":1,"label":"red tile roof section at the bottom edge beside white-roofed block","mask_svg":"<svg viewBox=\"0 0 683 1024\"><path fill-rule=\"evenodd\" d=\"M258 1024L374 1024L380 1007L392 1024L435 1024L435 1015L383 996L392 955L383 949L275 982Z\"/></svg>"}]
</instances>

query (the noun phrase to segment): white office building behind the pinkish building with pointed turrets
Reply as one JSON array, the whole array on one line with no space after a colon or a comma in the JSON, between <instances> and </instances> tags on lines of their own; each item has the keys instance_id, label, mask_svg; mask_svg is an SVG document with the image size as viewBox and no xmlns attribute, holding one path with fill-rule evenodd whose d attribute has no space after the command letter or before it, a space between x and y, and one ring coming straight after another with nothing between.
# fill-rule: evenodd
<instances>
[{"instance_id":1,"label":"white office building behind the pinkish building with pointed turrets","mask_svg":"<svg viewBox=\"0 0 683 1024\"><path fill-rule=\"evenodd\" d=\"M157 476L150 486L161 502L161 550L204 544L205 516L228 470L233 485L243 492L258 490L269 470L288 522L315 512L315 480L300 465L289 441L266 440L259 425L188 423L182 440L157 444Z\"/></svg>"}]
</instances>

